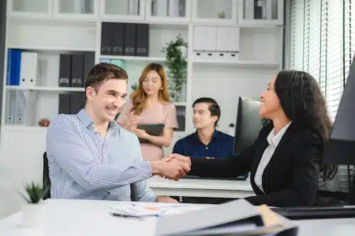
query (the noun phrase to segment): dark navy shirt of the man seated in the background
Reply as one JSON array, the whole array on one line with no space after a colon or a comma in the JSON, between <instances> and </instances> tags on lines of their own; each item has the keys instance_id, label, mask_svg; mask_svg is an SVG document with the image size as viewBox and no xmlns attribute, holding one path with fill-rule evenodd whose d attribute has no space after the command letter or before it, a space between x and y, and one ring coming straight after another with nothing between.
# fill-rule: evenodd
<instances>
[{"instance_id":1,"label":"dark navy shirt of the man seated in the background","mask_svg":"<svg viewBox=\"0 0 355 236\"><path fill-rule=\"evenodd\" d=\"M232 157L234 137L214 130L212 140L204 145L197 135L197 131L178 140L173 148L173 153L191 157Z\"/></svg>"}]
</instances>

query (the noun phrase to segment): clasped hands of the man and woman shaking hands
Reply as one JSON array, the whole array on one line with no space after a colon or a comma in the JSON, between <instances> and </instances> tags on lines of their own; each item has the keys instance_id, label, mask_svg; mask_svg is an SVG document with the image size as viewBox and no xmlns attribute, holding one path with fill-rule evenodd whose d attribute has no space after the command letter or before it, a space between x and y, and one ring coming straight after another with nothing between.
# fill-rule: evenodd
<instances>
[{"instance_id":1,"label":"clasped hands of the man and woman shaking hands","mask_svg":"<svg viewBox=\"0 0 355 236\"><path fill-rule=\"evenodd\" d=\"M153 175L178 181L181 176L185 176L190 172L191 159L190 157L173 153L159 161L151 161L151 166Z\"/></svg>"}]
</instances>

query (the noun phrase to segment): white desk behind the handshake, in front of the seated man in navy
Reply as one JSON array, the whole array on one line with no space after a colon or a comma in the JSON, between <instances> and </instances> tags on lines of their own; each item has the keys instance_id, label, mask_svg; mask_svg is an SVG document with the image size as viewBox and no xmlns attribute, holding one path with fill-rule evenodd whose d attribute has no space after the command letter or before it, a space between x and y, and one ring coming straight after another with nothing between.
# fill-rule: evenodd
<instances>
[{"instance_id":1,"label":"white desk behind the handshake, in front of the seated man in navy","mask_svg":"<svg viewBox=\"0 0 355 236\"><path fill-rule=\"evenodd\" d=\"M148 186L156 195L193 196L206 198L246 198L255 196L250 179L215 180L215 179L179 179L173 181L159 176L147 179Z\"/></svg>"}]
</instances>

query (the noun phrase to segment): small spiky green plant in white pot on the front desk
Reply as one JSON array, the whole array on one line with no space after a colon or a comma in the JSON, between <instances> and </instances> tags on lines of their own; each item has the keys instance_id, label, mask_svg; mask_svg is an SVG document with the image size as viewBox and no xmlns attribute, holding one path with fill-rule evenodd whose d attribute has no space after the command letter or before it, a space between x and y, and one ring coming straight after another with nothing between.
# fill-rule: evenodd
<instances>
[{"instance_id":1,"label":"small spiky green plant in white pot on the front desk","mask_svg":"<svg viewBox=\"0 0 355 236\"><path fill-rule=\"evenodd\" d=\"M24 227L40 227L45 220L43 198L50 189L49 184L43 188L39 184L31 182L26 184L26 194L20 193L26 203L22 205L22 218Z\"/></svg>"}]
</instances>

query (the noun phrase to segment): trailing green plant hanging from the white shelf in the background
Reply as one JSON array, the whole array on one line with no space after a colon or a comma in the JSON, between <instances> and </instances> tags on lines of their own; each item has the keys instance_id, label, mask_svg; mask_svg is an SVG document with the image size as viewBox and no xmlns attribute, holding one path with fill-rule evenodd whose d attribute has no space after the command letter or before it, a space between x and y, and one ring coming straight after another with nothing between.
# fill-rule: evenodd
<instances>
[{"instance_id":1,"label":"trailing green plant hanging from the white shelf in the background","mask_svg":"<svg viewBox=\"0 0 355 236\"><path fill-rule=\"evenodd\" d=\"M178 35L175 40L167 43L167 47L163 47L162 51L166 54L170 98L175 102L180 101L182 85L187 77L187 43Z\"/></svg>"}]
</instances>

